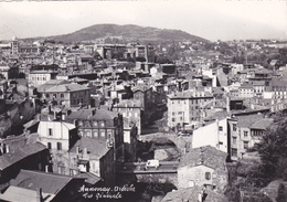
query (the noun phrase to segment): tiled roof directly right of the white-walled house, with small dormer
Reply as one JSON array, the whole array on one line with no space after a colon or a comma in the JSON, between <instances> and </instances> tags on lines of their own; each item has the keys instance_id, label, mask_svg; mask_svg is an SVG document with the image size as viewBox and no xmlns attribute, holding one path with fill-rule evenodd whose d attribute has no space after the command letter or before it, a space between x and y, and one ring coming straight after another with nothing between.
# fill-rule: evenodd
<instances>
[{"instance_id":1,"label":"tiled roof directly right of the white-walled house, with small dormer","mask_svg":"<svg viewBox=\"0 0 287 202\"><path fill-rule=\"evenodd\" d=\"M106 140L86 137L82 137L79 140L77 140L77 142L71 148L71 152L76 152L77 147L79 148L79 151L82 151L84 148L87 148L89 158L96 157L98 159L105 156L109 150L109 148L107 148Z\"/></svg>"}]
</instances>

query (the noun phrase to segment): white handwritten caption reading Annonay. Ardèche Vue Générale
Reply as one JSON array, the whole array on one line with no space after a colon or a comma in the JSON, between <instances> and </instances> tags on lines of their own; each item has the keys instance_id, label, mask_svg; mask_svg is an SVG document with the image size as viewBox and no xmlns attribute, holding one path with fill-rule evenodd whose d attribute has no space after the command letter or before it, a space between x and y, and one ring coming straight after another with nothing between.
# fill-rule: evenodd
<instances>
[{"instance_id":1,"label":"white handwritten caption reading Annonay. Ard\u00e8che Vue G\u00e9n\u00e9rale","mask_svg":"<svg viewBox=\"0 0 287 202\"><path fill-rule=\"evenodd\" d=\"M102 200L102 199L121 199L124 192L136 192L136 188L134 184L129 185L123 185L123 187L103 187L103 188L96 188L96 187L85 187L82 185L78 189L79 193L83 193L83 198L85 199L95 199L95 200Z\"/></svg>"}]
</instances>

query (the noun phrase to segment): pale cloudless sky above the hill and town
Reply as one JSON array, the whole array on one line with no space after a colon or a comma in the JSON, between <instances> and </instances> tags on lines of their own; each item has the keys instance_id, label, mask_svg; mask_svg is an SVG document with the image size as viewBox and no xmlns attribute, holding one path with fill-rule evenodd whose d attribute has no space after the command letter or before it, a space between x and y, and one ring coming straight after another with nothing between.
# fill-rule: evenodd
<instances>
[{"instance_id":1,"label":"pale cloudless sky above the hill and town","mask_svg":"<svg viewBox=\"0 0 287 202\"><path fill-rule=\"evenodd\" d=\"M0 2L0 40L67 34L100 23L182 30L211 41L287 40L287 0Z\"/></svg>"}]
</instances>

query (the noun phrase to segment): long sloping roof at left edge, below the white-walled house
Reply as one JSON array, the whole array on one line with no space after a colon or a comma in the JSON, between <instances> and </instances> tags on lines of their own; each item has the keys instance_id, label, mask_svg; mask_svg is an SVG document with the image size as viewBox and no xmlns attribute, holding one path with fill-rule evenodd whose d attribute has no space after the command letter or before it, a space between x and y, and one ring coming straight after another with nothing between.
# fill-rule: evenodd
<instances>
[{"instance_id":1,"label":"long sloping roof at left edge, below the white-walled house","mask_svg":"<svg viewBox=\"0 0 287 202\"><path fill-rule=\"evenodd\" d=\"M45 150L46 147L40 142L35 142L35 143L31 143L31 145L26 145L20 148L17 148L8 153L4 153L2 156L0 156L0 170L3 170L8 167L10 167L11 164L31 156L34 153L38 153L40 151Z\"/></svg>"}]
</instances>

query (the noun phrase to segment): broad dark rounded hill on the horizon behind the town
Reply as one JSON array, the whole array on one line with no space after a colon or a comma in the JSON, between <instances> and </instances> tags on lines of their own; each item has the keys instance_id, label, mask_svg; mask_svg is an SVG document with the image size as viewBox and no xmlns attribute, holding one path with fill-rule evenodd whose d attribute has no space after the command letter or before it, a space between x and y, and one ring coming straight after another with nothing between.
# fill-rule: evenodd
<instances>
[{"instance_id":1,"label":"broad dark rounded hill on the horizon behind the town","mask_svg":"<svg viewBox=\"0 0 287 202\"><path fill-rule=\"evenodd\" d=\"M121 41L131 42L148 42L148 41L183 41L204 42L206 40L191 35L180 30L168 30L157 28L144 28L139 25L117 25L117 24L96 24L84 28L76 32L49 36L44 39L62 41L62 42L79 42L92 41L96 39L117 38Z\"/></svg>"}]
</instances>

